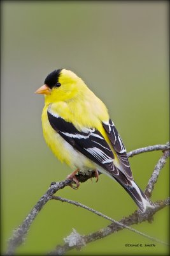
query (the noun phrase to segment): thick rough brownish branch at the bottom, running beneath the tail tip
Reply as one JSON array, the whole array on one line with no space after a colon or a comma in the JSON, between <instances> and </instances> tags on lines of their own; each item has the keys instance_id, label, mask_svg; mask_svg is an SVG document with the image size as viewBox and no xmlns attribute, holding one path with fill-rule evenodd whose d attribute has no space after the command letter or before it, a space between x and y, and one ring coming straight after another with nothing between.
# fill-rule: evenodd
<instances>
[{"instance_id":1,"label":"thick rough brownish branch at the bottom, running beneath the tail tip","mask_svg":"<svg viewBox=\"0 0 170 256\"><path fill-rule=\"evenodd\" d=\"M143 221L146 221L146 220L152 218L153 215L157 211L160 211L161 209L163 209L164 207L169 205L169 198L167 198L164 201L157 201L157 202L155 202L155 205L156 205L156 207L154 209L147 209L145 214L139 214L139 211L135 211L133 214L131 214L125 218L122 218L122 220L118 221L119 225L117 225L117 223L111 223L106 228L103 228L97 232L94 232L87 236L81 236L81 239L83 240L83 241L81 241L81 243L83 242L82 246L83 246L83 244L85 245L87 243L94 242L98 239L102 239L106 236L109 236L109 235L115 233L115 232L118 232L119 230L124 229L124 227L120 226L120 223L125 225L125 227L127 228L127 226L138 224L138 223L141 223ZM153 237L148 236L148 238L151 239ZM164 243L164 244L166 244L166 243ZM73 246L69 246L69 244L65 242L64 245L56 246L55 250L48 253L48 255L64 255L66 252L68 252L69 250L73 250L74 248L80 250L80 248L82 246L79 246L79 245L77 246L77 244L74 244Z\"/></svg>"}]
</instances>

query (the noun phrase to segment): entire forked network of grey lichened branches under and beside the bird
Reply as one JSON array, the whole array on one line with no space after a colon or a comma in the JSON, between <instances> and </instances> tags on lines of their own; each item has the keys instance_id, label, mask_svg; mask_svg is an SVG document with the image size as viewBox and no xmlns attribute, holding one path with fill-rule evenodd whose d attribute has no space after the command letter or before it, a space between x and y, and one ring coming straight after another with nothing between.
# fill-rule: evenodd
<instances>
[{"instance_id":1,"label":"entire forked network of grey lichened branches under and beside the bird","mask_svg":"<svg viewBox=\"0 0 170 256\"><path fill-rule=\"evenodd\" d=\"M164 167L166 164L167 158L169 157L169 142L166 143L166 145L153 145L143 148L138 148L136 150L132 150L131 152L127 153L128 157L135 156L137 154L141 154L144 152L150 152L155 150L162 150L163 154L160 157L158 163L155 165L155 168L153 170L153 173L150 177L150 180L148 181L148 184L145 189L145 195L150 198L152 196L152 191L154 189L154 185L157 182L157 179L159 177L160 170ZM101 174L101 173L99 173ZM92 175L82 175L79 173L76 175L76 179L78 179L79 182L85 182L86 180L96 177L96 173L92 173ZM120 221L115 221L111 219L110 217L102 214L101 212L97 212L94 209L91 209L90 207L87 207L86 205L82 205L79 202L75 202L72 200L68 200L66 198L61 198L60 196L54 196L54 194L59 191L60 189L65 188L66 186L70 186L74 182L73 179L66 179L60 182L52 182L46 193L41 196L41 198L38 200L36 205L34 205L31 212L27 215L25 220L22 222L20 226L15 228L13 230L13 235L8 240L8 249L6 251L6 255L14 255L15 250L17 249L20 244L24 243L25 238L27 236L27 232L29 232L29 227L32 224L32 221L35 220L36 216L39 214L41 209L45 206L46 202L49 200L60 200L61 202L67 202L69 204L74 204L79 207L83 207L84 209L87 209L88 211L94 212L94 214L97 214L99 216L102 216L103 218L106 218L107 220L110 220L112 223L108 225L106 228L103 228L97 232L94 232L92 234L89 234L87 236L81 236L76 232L75 229L73 229L73 232L66 238L64 238L64 245L58 245L52 252L48 253L48 255L64 255L67 251L72 250L73 248L76 248L80 250L83 246L85 246L87 243L91 243L92 241L96 241L97 239L101 239L103 237L109 236L110 234L113 234L115 232L118 232L119 230L123 230L124 228L127 228L133 232L136 232L137 234L140 234L142 236L148 237L148 239L152 239L153 241L157 243L164 243L162 241L159 241L158 239L155 239L153 237L150 237L148 235L145 235L138 230L134 230L134 228L131 228L129 226L137 223L141 223L143 221L149 221L150 223L153 221L153 215L157 212L169 205L169 198L166 198L166 200L159 200L155 202L155 208L153 209L147 209L144 214L141 214L139 211L135 211L131 215L122 218Z\"/></svg>"}]
</instances>

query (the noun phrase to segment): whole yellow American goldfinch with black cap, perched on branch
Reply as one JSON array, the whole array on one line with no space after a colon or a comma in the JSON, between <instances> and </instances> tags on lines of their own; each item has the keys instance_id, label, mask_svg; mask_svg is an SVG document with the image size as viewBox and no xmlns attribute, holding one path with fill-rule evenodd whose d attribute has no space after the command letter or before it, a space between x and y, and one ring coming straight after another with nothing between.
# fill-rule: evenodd
<instances>
[{"instance_id":1,"label":"whole yellow American goldfinch with black cap, perched on branch","mask_svg":"<svg viewBox=\"0 0 170 256\"><path fill-rule=\"evenodd\" d=\"M43 135L53 154L76 173L98 171L116 180L141 212L154 204L132 177L127 152L104 103L74 72L57 69L48 74L36 93L45 95L41 116Z\"/></svg>"}]
</instances>

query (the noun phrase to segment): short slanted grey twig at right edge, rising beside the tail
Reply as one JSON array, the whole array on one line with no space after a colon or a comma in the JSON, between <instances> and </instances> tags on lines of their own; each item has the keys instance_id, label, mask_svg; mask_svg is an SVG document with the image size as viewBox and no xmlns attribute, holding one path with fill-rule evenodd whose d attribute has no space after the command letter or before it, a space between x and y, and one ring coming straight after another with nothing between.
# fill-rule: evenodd
<instances>
[{"instance_id":1,"label":"short slanted grey twig at right edge, rising beside the tail","mask_svg":"<svg viewBox=\"0 0 170 256\"><path fill-rule=\"evenodd\" d=\"M160 157L158 163L155 165L154 171L153 171L153 173L148 181L148 185L146 186L146 189L145 189L145 195L148 198L150 198L150 196L152 196L152 191L153 191L154 185L157 182L157 179L159 177L160 170L166 164L169 154L170 154L169 149L164 150L163 155Z\"/></svg>"}]
</instances>

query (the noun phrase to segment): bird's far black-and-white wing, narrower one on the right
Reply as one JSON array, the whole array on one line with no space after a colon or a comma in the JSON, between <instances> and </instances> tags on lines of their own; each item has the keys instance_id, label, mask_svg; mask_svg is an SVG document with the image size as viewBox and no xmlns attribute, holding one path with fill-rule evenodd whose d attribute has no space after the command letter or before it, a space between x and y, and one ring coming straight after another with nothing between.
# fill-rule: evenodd
<instances>
[{"instance_id":1,"label":"bird's far black-and-white wing, narrower one on the right","mask_svg":"<svg viewBox=\"0 0 170 256\"><path fill-rule=\"evenodd\" d=\"M110 138L111 145L113 145L113 148L117 152L117 156L118 156L118 159L120 160L120 164L122 168L124 169L125 176L127 176L128 179L133 180L131 167L127 158L127 152L115 125L110 119L108 123L103 123L103 127L107 132L108 137Z\"/></svg>"}]
</instances>

